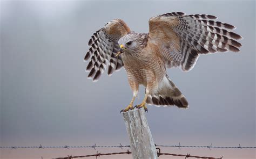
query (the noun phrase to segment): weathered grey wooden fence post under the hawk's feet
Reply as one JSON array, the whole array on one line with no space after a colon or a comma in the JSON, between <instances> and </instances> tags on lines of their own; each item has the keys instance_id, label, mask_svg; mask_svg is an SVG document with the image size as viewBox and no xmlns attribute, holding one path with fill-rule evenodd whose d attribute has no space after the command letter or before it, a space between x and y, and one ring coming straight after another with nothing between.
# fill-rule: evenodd
<instances>
[{"instance_id":1,"label":"weathered grey wooden fence post under the hawk's feet","mask_svg":"<svg viewBox=\"0 0 256 159\"><path fill-rule=\"evenodd\" d=\"M144 109L123 113L133 159L157 158L157 150L150 132Z\"/></svg>"}]
</instances>

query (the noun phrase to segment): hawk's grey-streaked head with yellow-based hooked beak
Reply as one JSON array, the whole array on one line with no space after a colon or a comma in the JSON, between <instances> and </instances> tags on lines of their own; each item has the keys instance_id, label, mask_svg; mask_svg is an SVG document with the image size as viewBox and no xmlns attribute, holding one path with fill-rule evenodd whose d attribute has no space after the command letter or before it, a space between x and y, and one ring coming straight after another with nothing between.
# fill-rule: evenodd
<instances>
[{"instance_id":1,"label":"hawk's grey-streaked head with yellow-based hooked beak","mask_svg":"<svg viewBox=\"0 0 256 159\"><path fill-rule=\"evenodd\" d=\"M120 46L120 52L116 54L118 56L122 53L133 53L138 52L139 49L142 48L143 37L140 34L127 34L118 40L118 44Z\"/></svg>"}]
</instances>

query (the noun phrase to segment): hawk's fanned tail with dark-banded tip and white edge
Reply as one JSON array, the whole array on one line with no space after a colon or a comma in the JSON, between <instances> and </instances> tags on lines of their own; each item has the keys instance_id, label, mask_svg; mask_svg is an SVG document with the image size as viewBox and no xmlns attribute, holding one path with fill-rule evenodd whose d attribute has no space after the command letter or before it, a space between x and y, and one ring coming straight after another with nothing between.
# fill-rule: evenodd
<instances>
[{"instance_id":1,"label":"hawk's fanned tail with dark-banded tip and white edge","mask_svg":"<svg viewBox=\"0 0 256 159\"><path fill-rule=\"evenodd\" d=\"M187 99L167 76L160 82L158 89L147 97L146 103L156 106L176 105L179 108L188 108Z\"/></svg>"}]
</instances>

